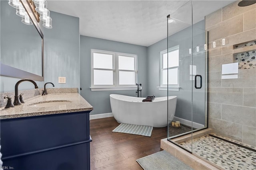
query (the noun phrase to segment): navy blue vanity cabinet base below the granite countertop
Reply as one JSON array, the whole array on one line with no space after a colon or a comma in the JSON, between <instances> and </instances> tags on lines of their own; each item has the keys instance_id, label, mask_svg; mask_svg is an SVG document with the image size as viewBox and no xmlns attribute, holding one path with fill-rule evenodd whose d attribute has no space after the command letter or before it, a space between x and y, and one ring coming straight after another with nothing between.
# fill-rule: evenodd
<instances>
[{"instance_id":1,"label":"navy blue vanity cabinet base below the granite countertop","mask_svg":"<svg viewBox=\"0 0 256 170\"><path fill-rule=\"evenodd\" d=\"M14 170L89 170L89 113L1 119L3 166Z\"/></svg>"}]
</instances>

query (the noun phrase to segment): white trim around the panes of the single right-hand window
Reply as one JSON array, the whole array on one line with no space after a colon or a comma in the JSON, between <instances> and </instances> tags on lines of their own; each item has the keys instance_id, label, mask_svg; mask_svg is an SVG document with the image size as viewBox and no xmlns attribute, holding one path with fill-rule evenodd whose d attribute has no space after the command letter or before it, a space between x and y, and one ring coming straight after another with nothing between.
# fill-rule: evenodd
<instances>
[{"instance_id":1,"label":"white trim around the panes of the single right-hand window","mask_svg":"<svg viewBox=\"0 0 256 170\"><path fill-rule=\"evenodd\" d=\"M179 45L176 45L174 47L169 48L169 50L167 51L161 51L160 52L160 63L159 63L159 86L157 87L158 90L169 90L169 91L179 91L180 90L180 63L179 66L174 66L174 67L168 67L168 68L162 68L162 64L163 64L163 54L171 52L171 51L175 51L175 50L179 50L180 53L180 47ZM179 56L180 58L180 56ZM168 89L167 89L167 84L162 84L162 70L168 70L168 69L172 69L172 68L178 68L178 84L168 84Z\"/></svg>"}]
</instances>

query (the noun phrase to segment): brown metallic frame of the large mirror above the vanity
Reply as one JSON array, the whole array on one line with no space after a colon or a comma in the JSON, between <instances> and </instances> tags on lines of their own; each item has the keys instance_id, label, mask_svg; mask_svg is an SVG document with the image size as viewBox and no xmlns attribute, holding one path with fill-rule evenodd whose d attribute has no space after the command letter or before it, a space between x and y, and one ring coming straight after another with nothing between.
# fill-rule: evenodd
<instances>
[{"instance_id":1,"label":"brown metallic frame of the large mirror above the vanity","mask_svg":"<svg viewBox=\"0 0 256 170\"><path fill-rule=\"evenodd\" d=\"M0 72L1 76L7 76L7 77L14 77L14 78L30 78L32 80L37 81L44 81L44 34L42 33L38 22L36 21L36 18L34 17L34 13L30 8L28 0L20 0L22 5L24 6L26 12L28 12L28 15L30 16L30 19L32 20L34 26L36 27L36 30L38 31L39 35L42 38L42 76L33 74L24 70L20 70L18 68L14 68L12 66L8 66L6 64L0 65Z\"/></svg>"}]
</instances>

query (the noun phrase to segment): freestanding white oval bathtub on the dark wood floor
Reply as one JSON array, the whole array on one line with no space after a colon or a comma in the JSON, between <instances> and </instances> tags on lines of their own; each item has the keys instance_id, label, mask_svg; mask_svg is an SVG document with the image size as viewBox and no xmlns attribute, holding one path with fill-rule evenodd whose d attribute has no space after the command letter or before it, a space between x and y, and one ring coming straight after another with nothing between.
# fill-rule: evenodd
<instances>
[{"instance_id":1,"label":"freestanding white oval bathtub on the dark wood floor","mask_svg":"<svg viewBox=\"0 0 256 170\"><path fill-rule=\"evenodd\" d=\"M155 98L153 102L142 102L144 98L110 94L110 105L114 118L119 123L164 127L172 120L176 110L177 96Z\"/></svg>"}]
</instances>

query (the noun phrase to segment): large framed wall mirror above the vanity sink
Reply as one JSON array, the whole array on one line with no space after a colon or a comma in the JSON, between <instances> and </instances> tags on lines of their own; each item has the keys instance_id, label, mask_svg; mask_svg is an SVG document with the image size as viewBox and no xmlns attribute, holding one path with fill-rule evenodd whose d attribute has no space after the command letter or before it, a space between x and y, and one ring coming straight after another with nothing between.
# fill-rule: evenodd
<instances>
[{"instance_id":1,"label":"large framed wall mirror above the vanity sink","mask_svg":"<svg viewBox=\"0 0 256 170\"><path fill-rule=\"evenodd\" d=\"M7 0L0 1L1 76L44 81L44 35L29 2L20 2L32 25L22 23Z\"/></svg>"}]
</instances>

